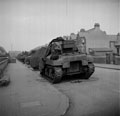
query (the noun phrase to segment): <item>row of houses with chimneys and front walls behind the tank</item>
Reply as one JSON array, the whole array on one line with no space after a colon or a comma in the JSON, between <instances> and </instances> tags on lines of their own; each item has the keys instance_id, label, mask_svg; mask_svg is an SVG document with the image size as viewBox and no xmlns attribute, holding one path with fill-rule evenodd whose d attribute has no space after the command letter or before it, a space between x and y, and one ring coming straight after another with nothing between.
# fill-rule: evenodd
<instances>
[{"instance_id":1,"label":"row of houses with chimneys and front walls behind the tank","mask_svg":"<svg viewBox=\"0 0 120 116\"><path fill-rule=\"evenodd\" d=\"M95 23L89 30L81 29L78 34L86 38L87 53L94 57L96 63L120 64L120 33L109 35ZM76 39L77 34L71 33L65 39Z\"/></svg>"}]
</instances>

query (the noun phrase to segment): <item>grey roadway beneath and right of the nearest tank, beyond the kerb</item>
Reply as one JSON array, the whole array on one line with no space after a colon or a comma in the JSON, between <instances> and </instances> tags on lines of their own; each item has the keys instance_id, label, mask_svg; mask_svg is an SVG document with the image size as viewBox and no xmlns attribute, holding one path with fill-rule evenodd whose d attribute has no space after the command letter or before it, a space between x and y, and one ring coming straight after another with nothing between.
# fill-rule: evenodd
<instances>
[{"instance_id":1,"label":"grey roadway beneath and right of the nearest tank, beyond the kerb","mask_svg":"<svg viewBox=\"0 0 120 116\"><path fill-rule=\"evenodd\" d=\"M119 116L120 70L96 68L89 80L54 85L70 99L65 116Z\"/></svg>"}]
</instances>

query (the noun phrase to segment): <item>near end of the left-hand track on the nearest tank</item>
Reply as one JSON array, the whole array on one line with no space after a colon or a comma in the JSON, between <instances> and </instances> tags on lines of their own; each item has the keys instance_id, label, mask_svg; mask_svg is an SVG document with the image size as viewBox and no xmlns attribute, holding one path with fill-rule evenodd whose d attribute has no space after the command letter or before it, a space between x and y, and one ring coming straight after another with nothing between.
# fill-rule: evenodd
<instances>
[{"instance_id":1,"label":"near end of the left-hand track on the nearest tank","mask_svg":"<svg viewBox=\"0 0 120 116\"><path fill-rule=\"evenodd\" d=\"M58 83L62 79L62 69L60 67L55 67L50 71L51 81L52 83Z\"/></svg>"}]
</instances>

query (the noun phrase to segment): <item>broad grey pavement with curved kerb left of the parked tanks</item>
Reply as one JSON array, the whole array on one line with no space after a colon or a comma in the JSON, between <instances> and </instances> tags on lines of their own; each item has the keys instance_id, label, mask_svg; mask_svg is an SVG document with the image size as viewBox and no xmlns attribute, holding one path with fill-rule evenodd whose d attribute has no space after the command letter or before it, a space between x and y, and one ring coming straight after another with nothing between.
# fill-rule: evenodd
<instances>
[{"instance_id":1,"label":"broad grey pavement with curved kerb left of the parked tanks","mask_svg":"<svg viewBox=\"0 0 120 116\"><path fill-rule=\"evenodd\" d=\"M69 99L19 61L9 64L11 83L0 88L0 116L62 116Z\"/></svg>"}]
</instances>

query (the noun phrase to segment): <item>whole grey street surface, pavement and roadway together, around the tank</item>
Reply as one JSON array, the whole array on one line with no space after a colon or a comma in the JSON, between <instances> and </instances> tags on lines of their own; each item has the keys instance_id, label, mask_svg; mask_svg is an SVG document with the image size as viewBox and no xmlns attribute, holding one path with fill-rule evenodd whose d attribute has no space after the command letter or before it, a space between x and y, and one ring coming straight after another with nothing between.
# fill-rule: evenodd
<instances>
[{"instance_id":1,"label":"whole grey street surface, pavement and roadway together, around the tank","mask_svg":"<svg viewBox=\"0 0 120 116\"><path fill-rule=\"evenodd\" d=\"M5 75L11 83L0 88L0 116L119 116L120 70L96 67L89 80L51 84L17 61Z\"/></svg>"}]
</instances>

